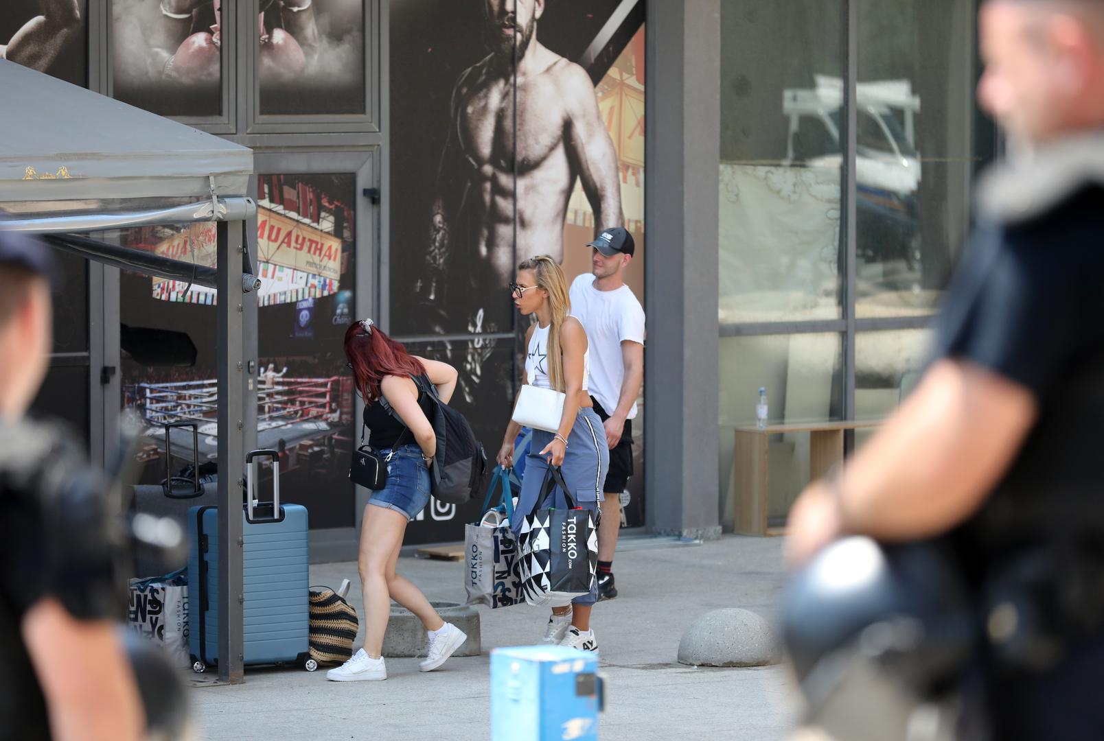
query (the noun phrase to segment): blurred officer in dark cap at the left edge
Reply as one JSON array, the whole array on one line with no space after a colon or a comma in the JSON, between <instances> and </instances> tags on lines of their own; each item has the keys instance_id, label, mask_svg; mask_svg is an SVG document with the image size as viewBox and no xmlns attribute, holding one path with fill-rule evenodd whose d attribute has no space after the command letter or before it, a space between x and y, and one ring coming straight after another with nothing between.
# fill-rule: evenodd
<instances>
[{"instance_id":1,"label":"blurred officer in dark cap at the left edge","mask_svg":"<svg viewBox=\"0 0 1104 741\"><path fill-rule=\"evenodd\" d=\"M49 250L0 232L0 428L9 430L46 374ZM117 623L108 620L114 615L105 600L83 593L84 580L65 583L46 572L59 560L51 551L68 544L57 541L56 530L47 535L49 511L22 487L38 486L41 476L7 475L31 465L25 457L8 460L14 465L0 470L0 738L139 738L144 711Z\"/></svg>"}]
</instances>

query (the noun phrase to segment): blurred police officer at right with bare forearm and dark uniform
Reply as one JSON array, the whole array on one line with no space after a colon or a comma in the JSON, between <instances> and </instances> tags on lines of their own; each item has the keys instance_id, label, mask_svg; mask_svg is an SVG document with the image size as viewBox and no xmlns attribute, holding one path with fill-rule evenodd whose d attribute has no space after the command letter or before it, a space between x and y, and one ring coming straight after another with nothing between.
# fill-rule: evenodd
<instances>
[{"instance_id":1,"label":"blurred police officer at right with bare forearm and dark uniform","mask_svg":"<svg viewBox=\"0 0 1104 741\"><path fill-rule=\"evenodd\" d=\"M980 44L1009 157L978 185L936 359L803 493L788 557L847 535L948 547L980 615L992 738L1101 739L1104 0L986 0Z\"/></svg>"}]
</instances>

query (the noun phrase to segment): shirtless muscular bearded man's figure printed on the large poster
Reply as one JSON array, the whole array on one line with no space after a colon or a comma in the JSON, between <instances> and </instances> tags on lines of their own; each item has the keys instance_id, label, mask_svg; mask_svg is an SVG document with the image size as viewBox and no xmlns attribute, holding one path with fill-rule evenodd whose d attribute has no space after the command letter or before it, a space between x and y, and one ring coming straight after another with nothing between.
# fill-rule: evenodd
<instances>
[{"instance_id":1,"label":"shirtless muscular bearded man's figure printed on the large poster","mask_svg":"<svg viewBox=\"0 0 1104 741\"><path fill-rule=\"evenodd\" d=\"M426 260L431 301L444 271L458 267L454 247L459 260L490 269L488 288L506 286L528 257L560 258L576 178L594 211L595 234L623 224L617 152L594 85L581 66L540 43L544 8L544 0L484 0L491 52L453 90ZM459 183L457 172L466 174ZM468 250L452 233L463 207L478 214Z\"/></svg>"}]
</instances>

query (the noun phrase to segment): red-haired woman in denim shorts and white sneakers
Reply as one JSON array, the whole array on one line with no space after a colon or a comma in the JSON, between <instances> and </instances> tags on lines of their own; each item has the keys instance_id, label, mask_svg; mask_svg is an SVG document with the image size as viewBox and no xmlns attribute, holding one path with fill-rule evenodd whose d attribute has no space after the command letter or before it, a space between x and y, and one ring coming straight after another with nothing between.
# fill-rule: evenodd
<instances>
[{"instance_id":1,"label":"red-haired woman in denim shorts and white sneakers","mask_svg":"<svg viewBox=\"0 0 1104 741\"><path fill-rule=\"evenodd\" d=\"M434 402L418 391L411 376L428 378L442 400L448 401L456 389L456 368L408 354L370 319L349 327L344 351L357 389L364 398L369 444L378 451L390 451L395 442L400 444L388 463L386 486L372 492L364 507L360 530L358 565L364 594L364 647L326 676L335 681L388 678L380 652L392 599L425 625L429 652L420 668L431 672L444 664L467 636L444 622L417 587L395 573L406 523L429 502L429 465L437 452L437 438L427 417ZM388 414L379 404L381 398L388 400L402 421Z\"/></svg>"}]
</instances>

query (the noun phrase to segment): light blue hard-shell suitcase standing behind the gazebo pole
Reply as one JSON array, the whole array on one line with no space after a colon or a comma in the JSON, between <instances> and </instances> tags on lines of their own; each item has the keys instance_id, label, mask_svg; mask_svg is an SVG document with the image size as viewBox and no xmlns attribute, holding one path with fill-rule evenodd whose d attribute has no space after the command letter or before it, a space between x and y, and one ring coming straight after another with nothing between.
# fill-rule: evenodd
<instances>
[{"instance_id":1,"label":"light blue hard-shell suitcase standing behind the gazebo pole","mask_svg":"<svg viewBox=\"0 0 1104 741\"><path fill-rule=\"evenodd\" d=\"M255 496L256 459L273 459L273 501ZM279 503L279 462L275 450L255 450L242 507L244 636L247 665L296 663L314 672L310 658L307 508ZM275 515L274 515L275 513ZM188 511L189 651L192 668L204 672L219 661L219 509Z\"/></svg>"}]
</instances>

